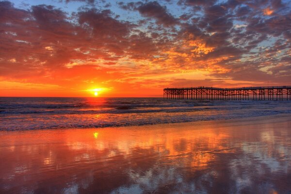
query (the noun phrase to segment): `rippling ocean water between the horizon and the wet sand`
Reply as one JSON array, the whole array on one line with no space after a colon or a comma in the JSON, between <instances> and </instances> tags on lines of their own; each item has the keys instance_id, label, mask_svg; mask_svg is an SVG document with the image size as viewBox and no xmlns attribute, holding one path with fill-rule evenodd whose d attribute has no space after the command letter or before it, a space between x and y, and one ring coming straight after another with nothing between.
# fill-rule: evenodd
<instances>
[{"instance_id":1,"label":"rippling ocean water between the horizon and the wet sand","mask_svg":"<svg viewBox=\"0 0 291 194\"><path fill-rule=\"evenodd\" d=\"M0 130L103 128L291 113L290 101L0 97Z\"/></svg>"}]
</instances>

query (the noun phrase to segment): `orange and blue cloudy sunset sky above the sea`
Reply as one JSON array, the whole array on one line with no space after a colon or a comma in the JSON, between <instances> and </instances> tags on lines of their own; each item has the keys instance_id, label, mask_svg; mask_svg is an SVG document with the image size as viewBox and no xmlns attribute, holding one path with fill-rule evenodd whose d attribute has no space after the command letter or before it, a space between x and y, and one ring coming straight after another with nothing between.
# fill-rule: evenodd
<instances>
[{"instance_id":1,"label":"orange and blue cloudy sunset sky above the sea","mask_svg":"<svg viewBox=\"0 0 291 194\"><path fill-rule=\"evenodd\" d=\"M291 85L291 1L0 1L0 96Z\"/></svg>"}]
</instances>

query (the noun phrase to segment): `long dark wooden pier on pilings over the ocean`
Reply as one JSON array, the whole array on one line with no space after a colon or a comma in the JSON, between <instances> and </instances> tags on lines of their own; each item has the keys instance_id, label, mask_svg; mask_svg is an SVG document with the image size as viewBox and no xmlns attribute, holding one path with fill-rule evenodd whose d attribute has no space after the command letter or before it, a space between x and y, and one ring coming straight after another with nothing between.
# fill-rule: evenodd
<instances>
[{"instance_id":1,"label":"long dark wooden pier on pilings over the ocean","mask_svg":"<svg viewBox=\"0 0 291 194\"><path fill-rule=\"evenodd\" d=\"M194 100L291 100L291 86L164 88L163 98Z\"/></svg>"}]
</instances>

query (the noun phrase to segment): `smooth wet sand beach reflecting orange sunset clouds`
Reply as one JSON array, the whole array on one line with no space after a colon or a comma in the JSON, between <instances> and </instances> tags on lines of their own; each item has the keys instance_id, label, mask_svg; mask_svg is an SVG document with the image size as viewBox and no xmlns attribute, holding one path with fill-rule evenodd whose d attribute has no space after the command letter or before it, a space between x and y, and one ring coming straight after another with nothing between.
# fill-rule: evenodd
<instances>
[{"instance_id":1,"label":"smooth wet sand beach reflecting orange sunset clouds","mask_svg":"<svg viewBox=\"0 0 291 194\"><path fill-rule=\"evenodd\" d=\"M291 193L291 115L0 131L0 193Z\"/></svg>"}]
</instances>

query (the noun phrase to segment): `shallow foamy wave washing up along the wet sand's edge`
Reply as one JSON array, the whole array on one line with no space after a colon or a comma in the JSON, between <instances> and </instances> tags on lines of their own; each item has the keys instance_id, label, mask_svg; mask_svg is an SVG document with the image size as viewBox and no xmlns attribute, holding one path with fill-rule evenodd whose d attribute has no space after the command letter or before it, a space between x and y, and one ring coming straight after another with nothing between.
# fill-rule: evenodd
<instances>
[{"instance_id":1,"label":"shallow foamy wave washing up along the wet sand's edge","mask_svg":"<svg viewBox=\"0 0 291 194\"><path fill-rule=\"evenodd\" d=\"M51 120L51 122L37 121L31 123L19 123L19 125L5 125L0 126L0 130L32 130L32 129L86 129L86 128L105 128L105 127L123 127L123 126L142 126L142 125L153 125L153 124L167 124L167 123L181 123L181 122L194 122L194 121L209 121L209 120L227 120L237 119L245 117L255 116L267 116L275 114L291 114L291 111L273 111L273 112L257 112L249 114L214 114L204 115L198 114L195 117L190 115L178 115L178 116L164 116L164 117L146 117L145 119L115 119L107 121L84 121L79 120L72 122L70 119L62 120Z\"/></svg>"}]
</instances>

